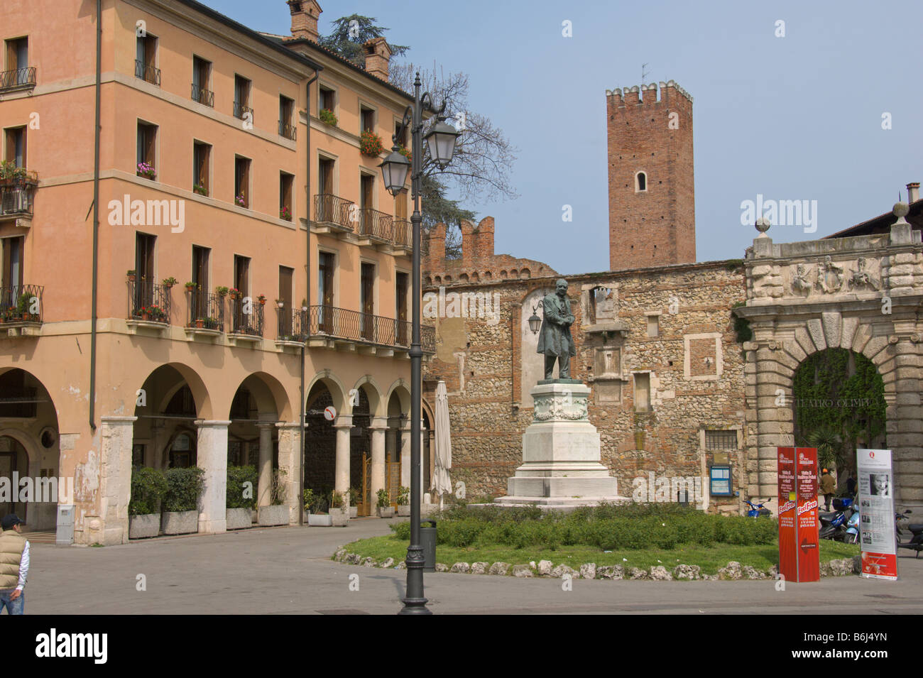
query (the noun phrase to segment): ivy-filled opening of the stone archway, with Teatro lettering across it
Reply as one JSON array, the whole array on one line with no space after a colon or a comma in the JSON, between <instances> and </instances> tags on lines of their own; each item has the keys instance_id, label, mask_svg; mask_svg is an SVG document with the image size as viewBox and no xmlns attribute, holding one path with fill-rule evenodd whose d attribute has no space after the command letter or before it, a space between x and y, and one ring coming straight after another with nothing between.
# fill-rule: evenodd
<instances>
[{"instance_id":1,"label":"ivy-filled opening of the stone archway, with Teatro lettering across it","mask_svg":"<svg viewBox=\"0 0 923 678\"><path fill-rule=\"evenodd\" d=\"M795 371L793 394L796 444L816 446L821 467L837 470L841 489L850 475L857 477L857 447L887 447L884 382L861 353L812 353Z\"/></svg>"}]
</instances>

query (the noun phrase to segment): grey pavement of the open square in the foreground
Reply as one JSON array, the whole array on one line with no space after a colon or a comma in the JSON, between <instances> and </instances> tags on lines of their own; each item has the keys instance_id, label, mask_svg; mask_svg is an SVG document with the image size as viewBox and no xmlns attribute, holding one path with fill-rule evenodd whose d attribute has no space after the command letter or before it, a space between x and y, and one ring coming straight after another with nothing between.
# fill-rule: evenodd
<instances>
[{"instance_id":1,"label":"grey pavement of the open square in the foreground","mask_svg":"<svg viewBox=\"0 0 923 678\"><path fill-rule=\"evenodd\" d=\"M33 544L30 614L396 613L405 570L330 560L337 547L389 533L378 518L347 528L268 528L137 541L104 548ZM604 581L436 573L434 613L923 613L923 558L899 560L901 580ZM137 590L138 575L147 590ZM350 590L358 575L359 590ZM355 580L355 577L352 577Z\"/></svg>"}]
</instances>

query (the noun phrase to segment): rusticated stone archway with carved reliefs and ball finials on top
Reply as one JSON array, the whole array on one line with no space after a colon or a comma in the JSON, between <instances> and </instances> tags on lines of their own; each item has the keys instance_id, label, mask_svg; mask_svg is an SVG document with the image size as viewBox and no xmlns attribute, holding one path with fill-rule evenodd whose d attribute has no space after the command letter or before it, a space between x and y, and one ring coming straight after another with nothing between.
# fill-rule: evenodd
<instances>
[{"instance_id":1,"label":"rusticated stone archway with carved reliefs and ball finials on top","mask_svg":"<svg viewBox=\"0 0 923 678\"><path fill-rule=\"evenodd\" d=\"M890 235L773 244L762 232L745 268L747 304L735 314L753 334L743 343L747 464L738 484L749 496L777 495L776 447L795 443L797 366L817 351L842 348L864 355L881 375L896 504L923 506L919 233L903 218Z\"/></svg>"}]
</instances>

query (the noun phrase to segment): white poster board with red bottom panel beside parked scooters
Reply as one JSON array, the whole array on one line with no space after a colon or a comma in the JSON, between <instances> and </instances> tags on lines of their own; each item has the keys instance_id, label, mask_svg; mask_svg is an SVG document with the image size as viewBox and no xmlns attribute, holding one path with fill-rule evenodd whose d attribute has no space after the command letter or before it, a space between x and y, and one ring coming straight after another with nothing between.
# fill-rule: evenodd
<instances>
[{"instance_id":1,"label":"white poster board with red bottom panel beside parked scooters","mask_svg":"<svg viewBox=\"0 0 923 678\"><path fill-rule=\"evenodd\" d=\"M890 449L857 449L862 577L897 578Z\"/></svg>"}]
</instances>

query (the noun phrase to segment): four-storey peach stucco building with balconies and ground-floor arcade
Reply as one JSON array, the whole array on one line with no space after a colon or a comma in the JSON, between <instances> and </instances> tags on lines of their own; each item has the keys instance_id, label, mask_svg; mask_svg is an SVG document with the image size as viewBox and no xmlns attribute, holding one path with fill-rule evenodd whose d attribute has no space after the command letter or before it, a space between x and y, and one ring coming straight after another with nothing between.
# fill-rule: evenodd
<instances>
[{"instance_id":1,"label":"four-storey peach stucco building with balconies and ground-floor arcade","mask_svg":"<svg viewBox=\"0 0 923 678\"><path fill-rule=\"evenodd\" d=\"M304 487L368 513L409 484L412 205L360 137L390 151L412 98L383 40L353 65L288 6L289 36L192 0L0 8L0 476L74 482L72 520L0 514L125 542L133 465L204 469L200 532L229 464L260 506L286 471L292 523Z\"/></svg>"}]
</instances>

